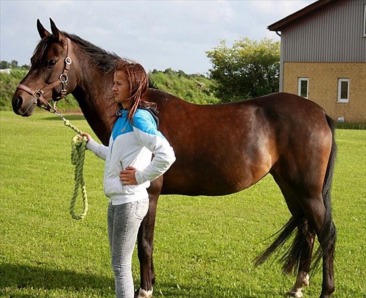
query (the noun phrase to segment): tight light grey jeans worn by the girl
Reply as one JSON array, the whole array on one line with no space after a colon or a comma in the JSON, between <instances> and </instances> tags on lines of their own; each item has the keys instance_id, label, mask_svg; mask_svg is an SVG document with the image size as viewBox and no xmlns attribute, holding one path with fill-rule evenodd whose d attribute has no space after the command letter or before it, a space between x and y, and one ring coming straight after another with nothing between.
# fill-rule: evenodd
<instances>
[{"instance_id":1,"label":"tight light grey jeans worn by the girl","mask_svg":"<svg viewBox=\"0 0 366 298\"><path fill-rule=\"evenodd\" d=\"M141 221L149 209L149 199L108 205L108 236L116 297L133 298L132 253Z\"/></svg>"}]
</instances>

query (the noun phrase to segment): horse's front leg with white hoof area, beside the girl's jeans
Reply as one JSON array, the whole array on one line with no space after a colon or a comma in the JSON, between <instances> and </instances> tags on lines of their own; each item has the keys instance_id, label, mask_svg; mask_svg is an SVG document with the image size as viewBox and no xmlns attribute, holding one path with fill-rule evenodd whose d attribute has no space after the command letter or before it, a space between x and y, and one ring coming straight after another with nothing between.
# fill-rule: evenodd
<instances>
[{"instance_id":1,"label":"horse's front leg with white hoof area, beside the girl's jeans","mask_svg":"<svg viewBox=\"0 0 366 298\"><path fill-rule=\"evenodd\" d=\"M135 293L136 297L152 297L152 285L155 283L155 272L152 262L154 227L157 200L160 195L162 181L161 176L151 182L151 186L147 190L150 200L149 210L141 223L137 235L137 250L140 261L140 288Z\"/></svg>"}]
</instances>

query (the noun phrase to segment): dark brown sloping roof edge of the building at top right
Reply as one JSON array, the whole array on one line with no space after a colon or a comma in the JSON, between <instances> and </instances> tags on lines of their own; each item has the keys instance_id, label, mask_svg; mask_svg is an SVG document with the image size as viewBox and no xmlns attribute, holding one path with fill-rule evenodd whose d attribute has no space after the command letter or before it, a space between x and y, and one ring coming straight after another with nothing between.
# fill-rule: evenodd
<instances>
[{"instance_id":1,"label":"dark brown sloping roof edge of the building at top right","mask_svg":"<svg viewBox=\"0 0 366 298\"><path fill-rule=\"evenodd\" d=\"M301 9L300 11L297 11L290 16L287 16L286 18L277 21L276 23L273 23L267 27L269 31L281 31L284 27L299 21L302 18L306 18L309 15L313 14L315 11L324 8L329 3L332 3L336 0L318 0L317 2L314 2L307 7Z\"/></svg>"}]
</instances>

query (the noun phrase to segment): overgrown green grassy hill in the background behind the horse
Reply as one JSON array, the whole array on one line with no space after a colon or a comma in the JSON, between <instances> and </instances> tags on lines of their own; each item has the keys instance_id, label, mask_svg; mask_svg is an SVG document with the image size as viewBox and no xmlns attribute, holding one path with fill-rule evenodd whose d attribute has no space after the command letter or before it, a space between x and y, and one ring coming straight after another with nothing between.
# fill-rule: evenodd
<instances>
[{"instance_id":1,"label":"overgrown green grassy hill in the background behind the horse","mask_svg":"<svg viewBox=\"0 0 366 298\"><path fill-rule=\"evenodd\" d=\"M0 110L12 110L12 96L27 72L28 70L24 68L13 68L9 74L0 73ZM189 102L198 104L219 102L211 91L214 83L203 75L188 75L181 70L174 71L168 68L165 71L154 69L149 72L149 78L156 88ZM63 111L79 110L78 104L71 94L57 103L57 107Z\"/></svg>"}]
</instances>

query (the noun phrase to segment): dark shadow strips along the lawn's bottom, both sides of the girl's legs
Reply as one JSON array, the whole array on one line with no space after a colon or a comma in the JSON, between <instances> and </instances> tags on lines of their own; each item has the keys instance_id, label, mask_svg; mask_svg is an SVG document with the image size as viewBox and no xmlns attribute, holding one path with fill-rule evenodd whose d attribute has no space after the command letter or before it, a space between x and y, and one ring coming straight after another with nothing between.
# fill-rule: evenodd
<instances>
[{"instance_id":1,"label":"dark shadow strips along the lawn's bottom, both sides of the girl's legs","mask_svg":"<svg viewBox=\"0 0 366 298\"><path fill-rule=\"evenodd\" d=\"M91 289L94 295L100 297L114 296L113 278L87 273L87 269L85 271L85 273L78 273L71 270L50 269L41 265L32 266L16 263L1 263L0 295L5 294L5 296L21 298L36 297L40 294L39 290L44 291L42 293L46 295L51 294L50 292L47 293L47 291L53 290L60 294L67 295L72 294L72 292L77 292L82 295L83 291L86 291L84 293L87 294ZM137 285L136 281L135 285ZM204 298L218 295L241 298L253 297L252 289L246 288L243 285L229 289L217 285L214 287L205 287L181 284L180 288L178 288L176 283L158 282L155 286L155 296L159 297ZM162 292L159 291L160 288Z\"/></svg>"}]
</instances>

